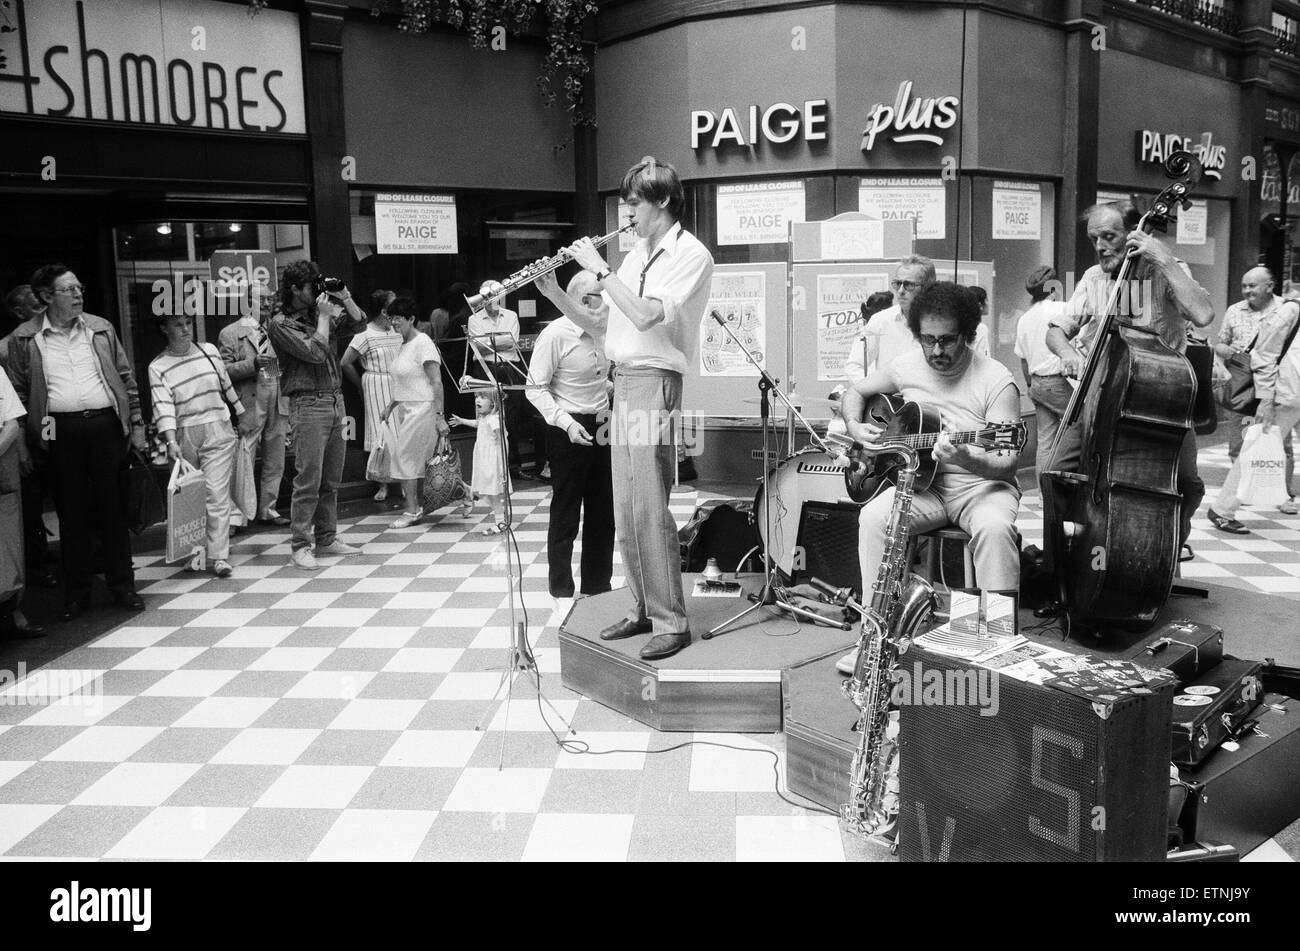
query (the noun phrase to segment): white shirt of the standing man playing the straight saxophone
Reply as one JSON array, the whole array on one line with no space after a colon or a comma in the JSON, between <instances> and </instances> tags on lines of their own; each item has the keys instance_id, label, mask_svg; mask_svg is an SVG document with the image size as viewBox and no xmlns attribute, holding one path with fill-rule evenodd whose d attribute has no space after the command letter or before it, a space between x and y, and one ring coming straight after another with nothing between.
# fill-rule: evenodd
<instances>
[{"instance_id":1,"label":"white shirt of the standing man playing the straight saxophone","mask_svg":"<svg viewBox=\"0 0 1300 951\"><path fill-rule=\"evenodd\" d=\"M610 329L604 352L618 364L656 366L685 373L699 346L699 320L708 307L714 256L680 223L673 225L650 253L645 238L619 265L619 279L646 300L663 305L663 320L646 330L628 318L604 292L610 305ZM645 277L645 286L641 279Z\"/></svg>"}]
</instances>

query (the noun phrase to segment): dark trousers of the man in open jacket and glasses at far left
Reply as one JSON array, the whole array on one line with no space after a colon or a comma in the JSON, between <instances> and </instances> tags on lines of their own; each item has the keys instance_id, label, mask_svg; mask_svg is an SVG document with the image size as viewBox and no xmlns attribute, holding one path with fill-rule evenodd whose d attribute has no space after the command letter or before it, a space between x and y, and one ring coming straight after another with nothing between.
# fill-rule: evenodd
<instances>
[{"instance_id":1,"label":"dark trousers of the man in open jacket and glasses at far left","mask_svg":"<svg viewBox=\"0 0 1300 951\"><path fill-rule=\"evenodd\" d=\"M131 538L122 505L126 437L112 409L51 413L49 476L58 512L58 550L64 565L64 599L90 596L91 525L103 542L104 581L110 591L135 590Z\"/></svg>"}]
</instances>

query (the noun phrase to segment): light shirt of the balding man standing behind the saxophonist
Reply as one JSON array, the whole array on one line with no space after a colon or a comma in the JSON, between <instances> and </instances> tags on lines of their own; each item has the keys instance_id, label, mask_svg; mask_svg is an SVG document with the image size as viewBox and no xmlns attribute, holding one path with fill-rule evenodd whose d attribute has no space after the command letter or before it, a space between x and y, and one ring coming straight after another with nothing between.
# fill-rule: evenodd
<instances>
[{"instance_id":1,"label":"light shirt of the balding man standing behind the saxophonist","mask_svg":"<svg viewBox=\"0 0 1300 951\"><path fill-rule=\"evenodd\" d=\"M573 413L608 408L610 361L602 343L568 317L552 321L538 335L525 392L551 426L568 431Z\"/></svg>"}]
</instances>

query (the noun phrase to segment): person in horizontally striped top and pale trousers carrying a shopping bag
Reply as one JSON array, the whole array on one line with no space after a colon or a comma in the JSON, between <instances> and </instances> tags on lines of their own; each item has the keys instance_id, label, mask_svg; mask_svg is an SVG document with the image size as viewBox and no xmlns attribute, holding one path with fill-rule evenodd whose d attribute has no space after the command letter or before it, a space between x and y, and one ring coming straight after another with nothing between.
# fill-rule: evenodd
<instances>
[{"instance_id":1,"label":"person in horizontally striped top and pale trousers carrying a shopping bag","mask_svg":"<svg viewBox=\"0 0 1300 951\"><path fill-rule=\"evenodd\" d=\"M194 343L188 317L162 317L159 329L166 348L150 364L153 425L170 459L183 456L203 470L208 487L208 566L218 578L229 578L230 476L239 446L230 413L238 413L240 434L251 430L256 420L235 398L217 348ZM202 552L195 552L187 569L200 570L202 564Z\"/></svg>"}]
</instances>

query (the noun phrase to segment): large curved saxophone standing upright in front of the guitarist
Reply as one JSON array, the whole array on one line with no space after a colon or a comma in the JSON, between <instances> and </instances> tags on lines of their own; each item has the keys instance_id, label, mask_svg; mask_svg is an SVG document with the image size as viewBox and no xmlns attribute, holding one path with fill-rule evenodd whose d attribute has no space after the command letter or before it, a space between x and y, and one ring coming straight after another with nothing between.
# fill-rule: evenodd
<instances>
[{"instance_id":1,"label":"large curved saxophone standing upright in front of the guitarist","mask_svg":"<svg viewBox=\"0 0 1300 951\"><path fill-rule=\"evenodd\" d=\"M889 446L883 452L901 455L904 465L894 483L885 553L876 572L871 602L867 608L859 608L862 634L858 637L858 659L853 677L844 685L844 692L858 708L859 716L858 750L849 768L849 802L840 807L840 822L845 830L858 835L887 831L892 820L884 804L894 754L894 743L885 738L892 674L898 656L907 651L916 629L935 609L935 590L927 581L911 574L906 555L916 451Z\"/></svg>"}]
</instances>

